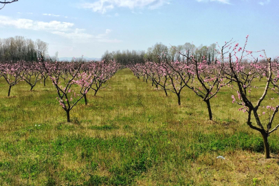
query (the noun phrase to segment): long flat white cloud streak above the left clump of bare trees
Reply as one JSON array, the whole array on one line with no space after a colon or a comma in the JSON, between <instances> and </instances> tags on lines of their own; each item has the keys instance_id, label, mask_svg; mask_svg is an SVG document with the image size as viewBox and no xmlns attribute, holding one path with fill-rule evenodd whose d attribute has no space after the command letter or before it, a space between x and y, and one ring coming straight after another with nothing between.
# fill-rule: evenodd
<instances>
[{"instance_id":1,"label":"long flat white cloud streak above the left clump of bare trees","mask_svg":"<svg viewBox=\"0 0 279 186\"><path fill-rule=\"evenodd\" d=\"M33 21L31 19L12 19L0 16L0 26L12 26L19 29L45 30L45 31L66 31L74 26L74 23L60 21Z\"/></svg>"}]
</instances>

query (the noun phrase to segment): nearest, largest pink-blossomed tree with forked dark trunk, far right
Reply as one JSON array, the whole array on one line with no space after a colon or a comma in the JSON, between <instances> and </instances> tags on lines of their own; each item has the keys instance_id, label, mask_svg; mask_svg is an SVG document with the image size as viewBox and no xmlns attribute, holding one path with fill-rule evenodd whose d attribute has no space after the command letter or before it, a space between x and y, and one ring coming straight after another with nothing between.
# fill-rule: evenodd
<instances>
[{"instance_id":1,"label":"nearest, largest pink-blossomed tree with forked dark trunk, far right","mask_svg":"<svg viewBox=\"0 0 279 186\"><path fill-rule=\"evenodd\" d=\"M231 79L236 85L233 87L233 89L238 94L237 98L232 95L233 103L236 102L238 105L241 105L241 108L239 108L239 111L243 111L247 114L247 125L252 128L253 130L256 130L260 132L260 134L263 136L263 143L265 146L265 158L270 158L270 148L269 148L269 142L268 137L271 133L275 132L279 125L276 125L275 127L272 126L274 123L274 118L276 116L276 113L278 112L279 104L276 103L276 101L268 101L268 92L271 89L271 83L273 78L272 70L271 70L271 58L267 58L265 54L265 50L257 51L257 52L263 52L265 54L265 59L267 60L267 70L264 76L266 77L265 87L263 88L262 93L258 96L257 92L259 92L261 89L257 89L258 87L251 85L248 81L245 81L243 79L243 76L247 76L247 78L254 79L252 76L255 76L257 73L263 72L266 65L260 65L258 63L258 60L253 56L252 51L245 50L247 39L245 42L245 46L243 48L238 48L237 45L233 47L231 50L228 50L228 59L229 59L229 66L230 66L230 76L227 76L227 78ZM232 45L232 43L228 43L228 45ZM238 52L241 52L241 56L239 57L237 54ZM247 56L250 56L252 61L249 63L250 65L250 72L247 74L247 68L245 69L245 64L243 64L243 59ZM261 55L260 55L261 56ZM263 56L261 56L263 57ZM277 76L277 74L276 74ZM254 81L254 80L253 80ZM245 92L245 90L249 89L249 94ZM254 90L255 89L255 90ZM257 91L256 91L257 89ZM254 94L254 96L251 96L251 94ZM258 97L258 98L257 98ZM271 100L273 100L271 98ZM274 104L272 105L264 105L264 104ZM269 115L266 114L265 110L269 111ZM254 121L254 122L252 122Z\"/></svg>"}]
</instances>

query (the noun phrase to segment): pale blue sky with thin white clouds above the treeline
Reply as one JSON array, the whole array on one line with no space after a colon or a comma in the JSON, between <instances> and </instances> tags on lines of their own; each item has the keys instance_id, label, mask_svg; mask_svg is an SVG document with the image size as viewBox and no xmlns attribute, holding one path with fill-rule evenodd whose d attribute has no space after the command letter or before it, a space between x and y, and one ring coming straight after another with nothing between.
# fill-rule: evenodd
<instances>
[{"instance_id":1,"label":"pale blue sky with thin white clouds above the treeline","mask_svg":"<svg viewBox=\"0 0 279 186\"><path fill-rule=\"evenodd\" d=\"M0 10L0 38L41 39L49 56L101 58L106 50L147 50L155 43L233 39L241 46L249 34L247 50L274 58L278 8L277 0L19 0Z\"/></svg>"}]
</instances>

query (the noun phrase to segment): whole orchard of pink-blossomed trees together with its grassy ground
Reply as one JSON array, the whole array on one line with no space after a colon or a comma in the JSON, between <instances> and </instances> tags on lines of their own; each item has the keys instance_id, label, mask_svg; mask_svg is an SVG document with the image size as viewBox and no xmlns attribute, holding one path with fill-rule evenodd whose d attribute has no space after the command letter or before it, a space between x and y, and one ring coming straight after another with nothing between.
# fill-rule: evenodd
<instances>
[{"instance_id":1,"label":"whole orchard of pink-blossomed trees together with its grassy ground","mask_svg":"<svg viewBox=\"0 0 279 186\"><path fill-rule=\"evenodd\" d=\"M277 184L278 59L247 50L247 39L218 45L213 61L180 51L183 61L126 66L2 61L0 183L218 185L218 172ZM239 179L239 163L255 157L264 163Z\"/></svg>"}]
</instances>

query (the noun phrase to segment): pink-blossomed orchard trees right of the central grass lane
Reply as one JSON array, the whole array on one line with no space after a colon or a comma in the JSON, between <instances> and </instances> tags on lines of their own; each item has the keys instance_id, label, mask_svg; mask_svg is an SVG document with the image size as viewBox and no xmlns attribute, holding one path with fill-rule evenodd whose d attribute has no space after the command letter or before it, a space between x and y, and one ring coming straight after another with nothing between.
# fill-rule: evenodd
<instances>
[{"instance_id":1,"label":"pink-blossomed orchard trees right of the central grass lane","mask_svg":"<svg viewBox=\"0 0 279 186\"><path fill-rule=\"evenodd\" d=\"M210 99L215 98L222 87L229 86L236 92L236 96L232 95L232 103L240 105L238 111L247 114L247 125L263 136L265 158L270 158L268 136L279 127L272 126L279 103L270 93L275 92L279 96L279 63L267 58L264 50L257 51L264 54L260 55L263 59L258 60L253 56L254 52L245 49L246 45L247 40L243 48L238 43L226 42L219 47L219 58L216 58L215 63L208 63L206 56L188 56L187 53L177 51L188 63L158 56L159 63L129 65L129 68L138 78L142 76L144 81L149 79L153 85L164 89L166 96L167 91L175 93L179 105L181 90L188 87L206 103L210 120ZM264 84L263 88L257 86L256 79Z\"/></svg>"}]
</instances>

